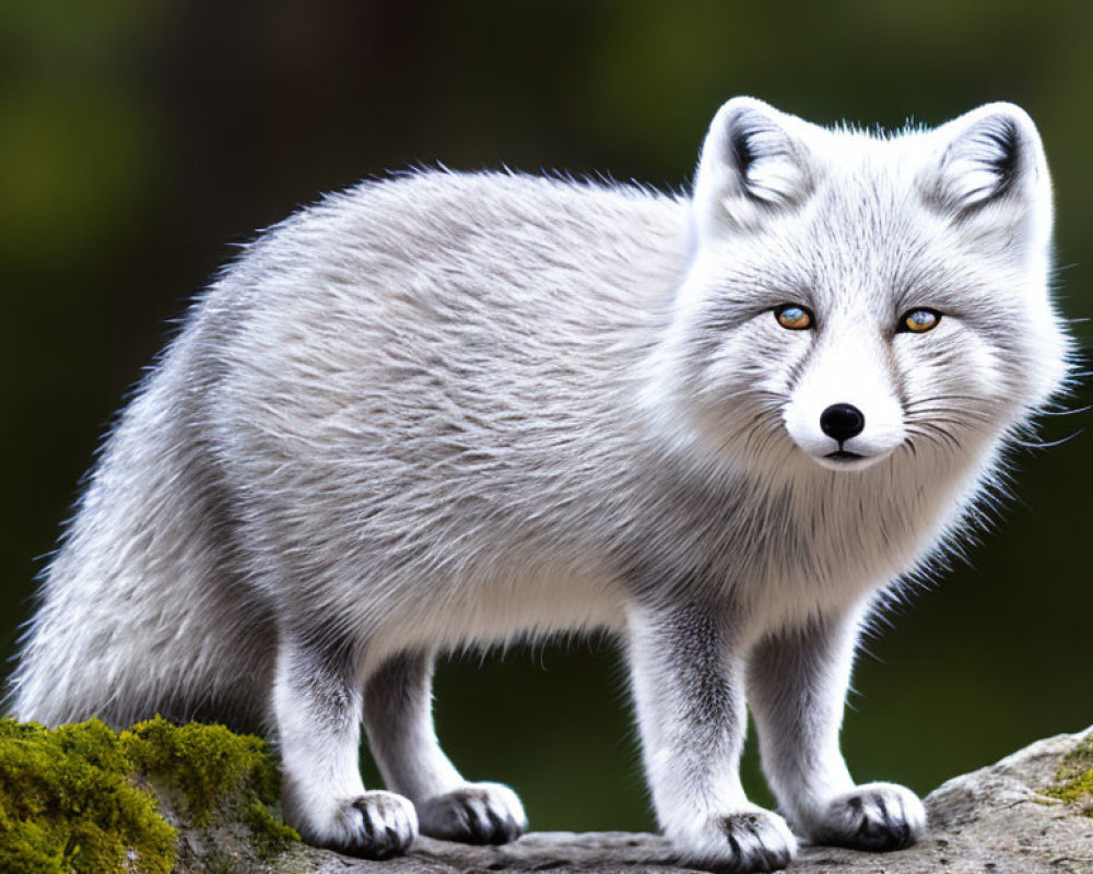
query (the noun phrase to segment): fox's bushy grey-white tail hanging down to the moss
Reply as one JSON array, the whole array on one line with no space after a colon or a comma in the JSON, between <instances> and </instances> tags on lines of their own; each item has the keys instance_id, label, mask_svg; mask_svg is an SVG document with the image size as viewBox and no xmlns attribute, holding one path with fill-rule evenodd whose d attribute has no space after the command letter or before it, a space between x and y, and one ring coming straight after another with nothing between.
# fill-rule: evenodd
<instances>
[{"instance_id":1,"label":"fox's bushy grey-white tail hanging down to the moss","mask_svg":"<svg viewBox=\"0 0 1093 874\"><path fill-rule=\"evenodd\" d=\"M20 719L262 728L274 631L238 575L213 453L188 425L193 387L174 369L127 410L47 570L10 681Z\"/></svg>"}]
</instances>

